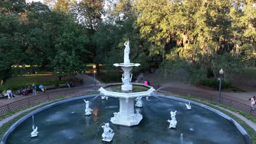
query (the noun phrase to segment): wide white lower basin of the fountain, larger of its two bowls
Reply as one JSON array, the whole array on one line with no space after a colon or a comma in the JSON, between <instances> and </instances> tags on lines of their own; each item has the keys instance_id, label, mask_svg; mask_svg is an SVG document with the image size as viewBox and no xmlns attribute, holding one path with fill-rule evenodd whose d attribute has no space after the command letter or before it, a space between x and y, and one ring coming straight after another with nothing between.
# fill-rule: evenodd
<instances>
[{"instance_id":1,"label":"wide white lower basin of the fountain, larger of its two bowls","mask_svg":"<svg viewBox=\"0 0 256 144\"><path fill-rule=\"evenodd\" d=\"M152 86L144 85L143 83L131 83L133 85L132 91L122 91L122 83L110 83L98 89L101 93L108 97L115 98L137 98L147 97L152 94L155 89Z\"/></svg>"}]
</instances>

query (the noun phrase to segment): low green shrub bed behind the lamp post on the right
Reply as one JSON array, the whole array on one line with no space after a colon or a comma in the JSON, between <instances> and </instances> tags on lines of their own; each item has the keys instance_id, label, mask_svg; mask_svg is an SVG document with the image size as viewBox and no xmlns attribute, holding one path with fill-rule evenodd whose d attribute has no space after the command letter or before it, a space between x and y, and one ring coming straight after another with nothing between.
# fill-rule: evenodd
<instances>
[{"instance_id":1,"label":"low green shrub bed behind the lamp post on the right","mask_svg":"<svg viewBox=\"0 0 256 144\"><path fill-rule=\"evenodd\" d=\"M200 83L200 85L205 85L207 87L219 88L219 81L217 81L217 80L205 79L205 80L201 80L199 83ZM222 89L230 88L230 87L231 87L230 82L222 81Z\"/></svg>"}]
</instances>

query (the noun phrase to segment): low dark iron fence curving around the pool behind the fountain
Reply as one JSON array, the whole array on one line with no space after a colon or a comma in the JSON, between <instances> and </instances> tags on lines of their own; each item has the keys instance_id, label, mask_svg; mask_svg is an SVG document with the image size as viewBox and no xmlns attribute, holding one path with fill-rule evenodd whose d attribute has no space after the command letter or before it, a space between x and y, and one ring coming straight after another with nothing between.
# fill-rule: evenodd
<instances>
[{"instance_id":1,"label":"low dark iron fence curving around the pool behind the fountain","mask_svg":"<svg viewBox=\"0 0 256 144\"><path fill-rule=\"evenodd\" d=\"M96 89L98 89L98 88L100 88L100 86L96 87ZM33 97L28 97L28 98L14 101L13 103L9 103L7 105L1 106L0 107L0 116L5 115L10 111L16 111L16 110L24 108L25 106L37 104L42 101L53 100L60 96L72 97L75 95L82 95L89 91L96 91L96 89L93 86L91 86L91 87L76 87L76 88L59 89L54 92L48 91L45 93L40 93L40 94L34 95ZM205 92L199 92L199 91L193 91L190 89L165 87L165 88L162 88L161 90L165 91L165 92L191 95L191 96L194 96L197 98L203 98L203 99L207 99L207 100L211 100L211 101L218 101L218 95L205 93ZM224 106L232 107L235 110L249 113L254 118L256 118L256 111L252 110L252 107L249 105L246 105L246 104L243 104L243 103L240 103L238 101L231 100L228 98L224 98L224 97L222 97L222 99L221 99L221 104L223 104Z\"/></svg>"}]
</instances>

